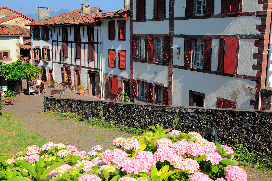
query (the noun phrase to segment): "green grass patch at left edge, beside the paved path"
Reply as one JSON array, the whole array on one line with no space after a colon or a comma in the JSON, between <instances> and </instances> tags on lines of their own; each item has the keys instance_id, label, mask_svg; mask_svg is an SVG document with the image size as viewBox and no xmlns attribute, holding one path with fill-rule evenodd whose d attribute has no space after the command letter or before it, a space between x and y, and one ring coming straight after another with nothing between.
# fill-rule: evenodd
<instances>
[{"instance_id":1,"label":"green grass patch at left edge, beside the paved path","mask_svg":"<svg viewBox=\"0 0 272 181\"><path fill-rule=\"evenodd\" d=\"M1 124L0 133L4 135L4 137L0 138L1 154L14 155L18 151L23 151L29 145L41 146L46 142L38 134L29 133L16 119L8 114L0 116Z\"/></svg>"}]
</instances>

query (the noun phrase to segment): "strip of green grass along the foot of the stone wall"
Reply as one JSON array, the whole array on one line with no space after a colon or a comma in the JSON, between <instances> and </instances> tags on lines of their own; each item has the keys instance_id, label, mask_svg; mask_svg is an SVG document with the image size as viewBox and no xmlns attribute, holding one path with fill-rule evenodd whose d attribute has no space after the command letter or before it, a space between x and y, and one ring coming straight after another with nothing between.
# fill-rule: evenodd
<instances>
[{"instance_id":1,"label":"strip of green grass along the foot of the stone wall","mask_svg":"<svg viewBox=\"0 0 272 181\"><path fill-rule=\"evenodd\" d=\"M49 114L53 114L54 116L58 118L69 118L75 121L83 122L87 124L88 126L94 126L99 129L107 129L111 132L115 133L121 133L121 134L130 134L130 135L142 135L145 133L147 130L143 129L135 129L132 127L126 127L123 125L119 124L113 124L110 121L104 119L104 118L99 118L99 117L89 117L89 120L86 121L82 116L76 114L76 113L71 113L71 112L64 112L61 113L58 109L50 110L48 111ZM47 114L48 114L47 113Z\"/></svg>"}]
</instances>

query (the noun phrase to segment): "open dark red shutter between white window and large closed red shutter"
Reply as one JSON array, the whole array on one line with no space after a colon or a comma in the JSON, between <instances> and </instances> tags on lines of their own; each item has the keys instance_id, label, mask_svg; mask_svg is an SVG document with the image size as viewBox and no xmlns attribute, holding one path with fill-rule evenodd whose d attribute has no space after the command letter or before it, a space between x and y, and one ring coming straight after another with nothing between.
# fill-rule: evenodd
<instances>
[{"instance_id":1,"label":"open dark red shutter between white window and large closed red shutter","mask_svg":"<svg viewBox=\"0 0 272 181\"><path fill-rule=\"evenodd\" d=\"M212 62L212 37L205 38L203 69L211 70Z\"/></svg>"}]
</instances>

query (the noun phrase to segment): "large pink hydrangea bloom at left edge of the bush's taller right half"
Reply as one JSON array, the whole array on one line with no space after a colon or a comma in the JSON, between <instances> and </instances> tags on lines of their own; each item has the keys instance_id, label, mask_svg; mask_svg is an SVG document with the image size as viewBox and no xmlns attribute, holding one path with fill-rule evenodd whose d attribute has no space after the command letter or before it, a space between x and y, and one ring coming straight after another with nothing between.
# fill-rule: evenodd
<instances>
[{"instance_id":1,"label":"large pink hydrangea bloom at left edge of the bush's taller right half","mask_svg":"<svg viewBox=\"0 0 272 181\"><path fill-rule=\"evenodd\" d=\"M105 150L101 158L104 160L106 164L112 163L114 167L121 168L122 162L128 157L126 152L124 152L122 149L107 149Z\"/></svg>"}]
</instances>

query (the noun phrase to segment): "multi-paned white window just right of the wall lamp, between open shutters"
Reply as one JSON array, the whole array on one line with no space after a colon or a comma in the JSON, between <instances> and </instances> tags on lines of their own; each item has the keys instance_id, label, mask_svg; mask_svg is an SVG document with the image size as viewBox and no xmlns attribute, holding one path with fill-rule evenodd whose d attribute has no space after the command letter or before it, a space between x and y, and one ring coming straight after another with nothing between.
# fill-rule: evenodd
<instances>
[{"instance_id":1,"label":"multi-paned white window just right of the wall lamp, between open shutters","mask_svg":"<svg viewBox=\"0 0 272 181\"><path fill-rule=\"evenodd\" d=\"M194 59L193 67L194 68L203 68L204 63L204 38L195 38L194 39Z\"/></svg>"}]
</instances>

